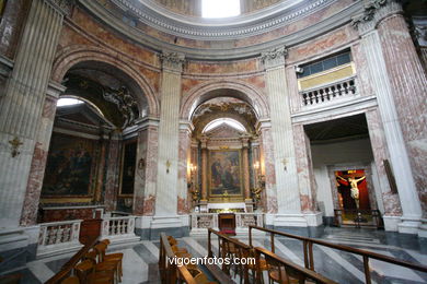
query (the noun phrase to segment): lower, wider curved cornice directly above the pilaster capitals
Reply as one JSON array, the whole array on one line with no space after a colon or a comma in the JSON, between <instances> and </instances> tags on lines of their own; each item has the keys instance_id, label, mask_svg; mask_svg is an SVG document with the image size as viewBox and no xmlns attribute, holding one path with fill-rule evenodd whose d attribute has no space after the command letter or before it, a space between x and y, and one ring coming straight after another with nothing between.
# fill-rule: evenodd
<instances>
[{"instance_id":1,"label":"lower, wider curved cornice directly above the pilaster capitals","mask_svg":"<svg viewBox=\"0 0 427 284\"><path fill-rule=\"evenodd\" d=\"M314 23L301 31L296 33L277 37L266 43L258 43L256 45L235 47L234 40L224 40L220 43L220 46L215 45L215 47L207 48L193 48L184 47L180 45L174 45L168 42L164 42L160 38L150 36L143 33L141 29L129 26L122 19L117 17L116 14L113 14L111 11L106 10L97 1L93 0L79 0L79 3L88 10L90 13L94 14L100 19L104 24L111 26L118 33L126 35L131 40L146 46L157 52L161 54L162 50L171 50L173 52L182 52L185 55L187 60L235 60L243 58L254 58L259 57L264 50L270 50L280 46L295 46L318 36L321 36L325 33L328 33L333 29L336 29L345 24L348 24L351 21L351 17L362 10L362 2L355 1L348 7L343 8L337 11L334 15L326 17L320 22ZM265 32L265 31L263 31ZM199 38L200 39L200 38ZM212 38L215 39L215 38Z\"/></svg>"}]
</instances>

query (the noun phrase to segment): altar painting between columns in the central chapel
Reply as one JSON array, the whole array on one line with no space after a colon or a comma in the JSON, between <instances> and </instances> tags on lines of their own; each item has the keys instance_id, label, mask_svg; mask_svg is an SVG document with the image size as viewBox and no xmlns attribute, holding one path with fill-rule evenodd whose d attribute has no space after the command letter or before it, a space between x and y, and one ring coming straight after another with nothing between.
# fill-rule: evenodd
<instances>
[{"instance_id":1,"label":"altar painting between columns in the central chapel","mask_svg":"<svg viewBox=\"0 0 427 284\"><path fill-rule=\"evenodd\" d=\"M209 196L242 196L240 151L209 152Z\"/></svg>"}]
</instances>

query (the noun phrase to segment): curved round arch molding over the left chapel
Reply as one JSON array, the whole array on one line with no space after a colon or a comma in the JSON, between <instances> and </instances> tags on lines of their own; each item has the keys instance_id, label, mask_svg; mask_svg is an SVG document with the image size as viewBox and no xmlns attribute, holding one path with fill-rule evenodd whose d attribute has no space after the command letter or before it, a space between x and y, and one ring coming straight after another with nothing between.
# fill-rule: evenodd
<instances>
[{"instance_id":1,"label":"curved round arch molding over the left chapel","mask_svg":"<svg viewBox=\"0 0 427 284\"><path fill-rule=\"evenodd\" d=\"M53 81L60 83L68 70L77 63L83 61L104 62L126 73L135 80L146 96L149 108L148 115L154 117L159 116L159 100L155 97L154 91L150 84L148 84L143 75L134 69L128 62L118 57L117 52L112 52L107 49L82 45L65 48L54 62L51 71Z\"/></svg>"}]
</instances>

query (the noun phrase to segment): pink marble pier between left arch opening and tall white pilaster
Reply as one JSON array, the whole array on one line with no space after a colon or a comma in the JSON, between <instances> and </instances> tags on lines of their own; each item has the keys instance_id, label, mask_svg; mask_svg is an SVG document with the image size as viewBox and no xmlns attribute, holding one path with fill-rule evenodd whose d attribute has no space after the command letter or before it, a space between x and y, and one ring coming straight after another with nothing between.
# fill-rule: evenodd
<instances>
[{"instance_id":1,"label":"pink marble pier between left arch opening and tall white pilaster","mask_svg":"<svg viewBox=\"0 0 427 284\"><path fill-rule=\"evenodd\" d=\"M155 121L146 121L138 132L134 214L154 215L159 131Z\"/></svg>"}]
</instances>

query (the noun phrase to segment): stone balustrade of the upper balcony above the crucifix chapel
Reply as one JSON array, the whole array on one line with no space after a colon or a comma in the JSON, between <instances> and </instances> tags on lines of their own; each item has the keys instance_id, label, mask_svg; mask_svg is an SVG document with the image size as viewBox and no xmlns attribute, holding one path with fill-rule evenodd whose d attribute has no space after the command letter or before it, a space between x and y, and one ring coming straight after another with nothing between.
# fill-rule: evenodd
<instances>
[{"instance_id":1,"label":"stone balustrade of the upper balcony above the crucifix chapel","mask_svg":"<svg viewBox=\"0 0 427 284\"><path fill-rule=\"evenodd\" d=\"M355 76L332 84L322 85L300 92L302 106L313 106L344 96L356 95Z\"/></svg>"}]
</instances>

